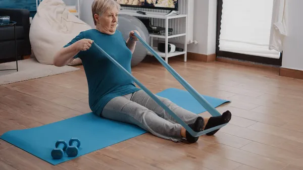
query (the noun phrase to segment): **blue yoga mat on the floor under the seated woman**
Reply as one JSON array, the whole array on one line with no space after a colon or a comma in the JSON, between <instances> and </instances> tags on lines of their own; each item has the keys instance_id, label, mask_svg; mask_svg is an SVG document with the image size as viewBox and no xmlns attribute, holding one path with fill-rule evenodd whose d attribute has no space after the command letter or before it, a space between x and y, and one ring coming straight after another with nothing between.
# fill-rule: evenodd
<instances>
[{"instance_id":1,"label":"blue yoga mat on the floor under the seated woman","mask_svg":"<svg viewBox=\"0 0 303 170\"><path fill-rule=\"evenodd\" d=\"M199 104L187 91L169 88L157 95L166 97L181 107L199 114L206 109ZM228 100L204 96L213 107L217 107ZM53 165L74 159L81 155L114 145L127 139L146 133L145 130L130 124L111 121L95 116L92 112L74 118L43 125L25 130L6 132L1 139L43 159ZM53 159L51 151L57 140L78 138L81 141L79 154L76 157Z\"/></svg>"}]
</instances>

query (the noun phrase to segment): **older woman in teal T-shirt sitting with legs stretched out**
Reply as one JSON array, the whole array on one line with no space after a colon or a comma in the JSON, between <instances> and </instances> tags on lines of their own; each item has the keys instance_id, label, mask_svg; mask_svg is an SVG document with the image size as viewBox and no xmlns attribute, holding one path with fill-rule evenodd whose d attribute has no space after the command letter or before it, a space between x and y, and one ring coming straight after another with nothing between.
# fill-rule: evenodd
<instances>
[{"instance_id":1,"label":"older woman in teal T-shirt sitting with legs stretched out","mask_svg":"<svg viewBox=\"0 0 303 170\"><path fill-rule=\"evenodd\" d=\"M160 105L143 90L137 88L132 79L99 52L95 42L114 60L131 73L131 58L137 38L134 31L125 41L116 30L120 6L114 0L95 0L91 6L95 29L80 32L54 57L54 65L62 67L75 58L80 58L84 67L89 90L89 106L99 117L130 123L151 134L174 142L187 140L196 142ZM231 114L203 118L185 110L167 98L159 99L166 104L195 132L229 122ZM208 133L214 135L218 130Z\"/></svg>"}]
</instances>

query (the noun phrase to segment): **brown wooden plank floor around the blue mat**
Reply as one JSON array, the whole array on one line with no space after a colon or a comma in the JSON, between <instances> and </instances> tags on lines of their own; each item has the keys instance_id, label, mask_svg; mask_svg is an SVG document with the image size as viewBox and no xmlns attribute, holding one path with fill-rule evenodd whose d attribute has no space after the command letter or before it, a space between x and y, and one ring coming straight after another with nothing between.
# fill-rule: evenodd
<instances>
[{"instance_id":1,"label":"brown wooden plank floor around the blue mat","mask_svg":"<svg viewBox=\"0 0 303 170\"><path fill-rule=\"evenodd\" d=\"M218 107L233 117L215 136L189 145L147 133L57 166L0 141L0 169L303 169L302 80L276 69L169 62L199 93L232 101ZM142 63L133 75L154 93L184 89L159 62ZM0 86L0 134L90 112L87 95L83 69Z\"/></svg>"}]
</instances>

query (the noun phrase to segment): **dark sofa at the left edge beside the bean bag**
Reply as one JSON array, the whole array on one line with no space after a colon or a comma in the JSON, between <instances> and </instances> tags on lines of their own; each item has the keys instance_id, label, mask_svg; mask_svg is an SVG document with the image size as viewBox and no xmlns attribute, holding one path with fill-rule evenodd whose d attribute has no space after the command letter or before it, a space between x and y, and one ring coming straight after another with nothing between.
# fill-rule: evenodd
<instances>
[{"instance_id":1,"label":"dark sofa at the left edge beside the bean bag","mask_svg":"<svg viewBox=\"0 0 303 170\"><path fill-rule=\"evenodd\" d=\"M0 16L10 16L11 21L16 21L16 39L18 60L31 54L29 41L29 11L26 9L0 8ZM3 60L16 60L14 26L0 27L0 62Z\"/></svg>"}]
</instances>

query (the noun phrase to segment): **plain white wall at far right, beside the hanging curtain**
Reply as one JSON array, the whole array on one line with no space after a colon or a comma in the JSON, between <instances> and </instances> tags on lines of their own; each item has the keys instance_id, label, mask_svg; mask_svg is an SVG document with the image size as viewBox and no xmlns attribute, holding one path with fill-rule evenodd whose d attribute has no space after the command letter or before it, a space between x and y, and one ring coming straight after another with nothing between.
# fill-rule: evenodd
<instances>
[{"instance_id":1,"label":"plain white wall at far right, beside the hanging curtain","mask_svg":"<svg viewBox=\"0 0 303 170\"><path fill-rule=\"evenodd\" d=\"M282 67L303 70L302 0L288 0L287 36L283 46Z\"/></svg>"}]
</instances>

